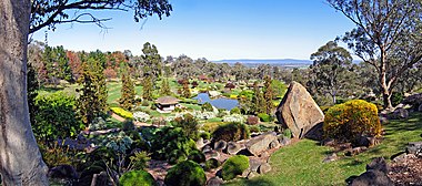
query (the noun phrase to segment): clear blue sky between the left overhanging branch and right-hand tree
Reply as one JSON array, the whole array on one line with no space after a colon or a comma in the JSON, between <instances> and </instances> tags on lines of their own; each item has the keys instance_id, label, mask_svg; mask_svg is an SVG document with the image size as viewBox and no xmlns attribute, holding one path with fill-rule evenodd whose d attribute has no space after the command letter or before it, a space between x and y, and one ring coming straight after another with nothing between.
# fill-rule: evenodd
<instances>
[{"instance_id":1,"label":"clear blue sky between the left overhanging branch and right-hand tree","mask_svg":"<svg viewBox=\"0 0 422 186\"><path fill-rule=\"evenodd\" d=\"M162 56L193 59L302 59L354 25L323 0L170 0L173 12L133 21L132 12L94 12L107 31L94 24L62 24L47 31L49 45L69 50L123 51L142 54L144 42ZM44 41L46 31L33 39Z\"/></svg>"}]
</instances>

